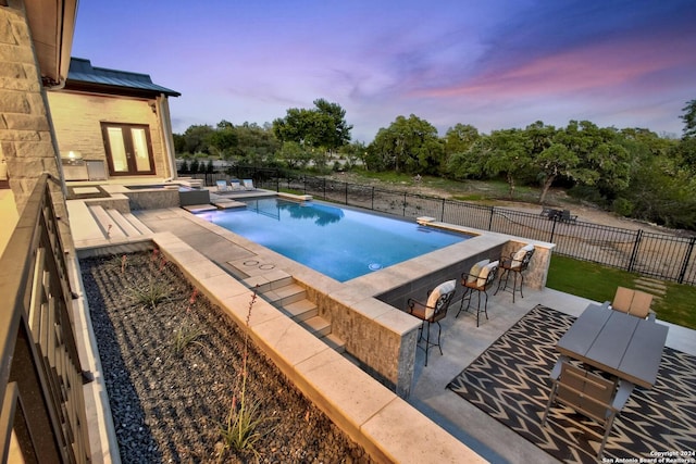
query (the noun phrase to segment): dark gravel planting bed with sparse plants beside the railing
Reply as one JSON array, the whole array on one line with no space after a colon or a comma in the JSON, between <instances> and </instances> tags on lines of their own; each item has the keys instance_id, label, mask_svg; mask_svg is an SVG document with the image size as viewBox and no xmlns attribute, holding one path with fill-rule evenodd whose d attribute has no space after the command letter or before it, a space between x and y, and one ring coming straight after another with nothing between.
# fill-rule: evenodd
<instances>
[{"instance_id":1,"label":"dark gravel planting bed with sparse plants beside the railing","mask_svg":"<svg viewBox=\"0 0 696 464\"><path fill-rule=\"evenodd\" d=\"M80 267L124 463L372 462L160 253ZM246 346L260 438L238 451L221 430L241 406Z\"/></svg>"}]
</instances>

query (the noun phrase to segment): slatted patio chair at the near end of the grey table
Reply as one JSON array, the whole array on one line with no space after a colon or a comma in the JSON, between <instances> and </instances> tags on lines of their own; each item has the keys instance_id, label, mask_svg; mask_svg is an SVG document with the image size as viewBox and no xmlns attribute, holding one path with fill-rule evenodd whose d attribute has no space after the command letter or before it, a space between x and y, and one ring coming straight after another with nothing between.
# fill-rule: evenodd
<instances>
[{"instance_id":1,"label":"slatted patio chair at the near end of the grey table","mask_svg":"<svg viewBox=\"0 0 696 464\"><path fill-rule=\"evenodd\" d=\"M561 362L559 375L555 375L556 371L551 373L554 385L542 417L542 426L546 425L548 411L554 402L572 407L576 413L596 421L605 429L597 452L597 459L601 460L613 419L629 400L631 389L622 386L617 390L619 381L616 378L601 377L568 361Z\"/></svg>"}]
</instances>

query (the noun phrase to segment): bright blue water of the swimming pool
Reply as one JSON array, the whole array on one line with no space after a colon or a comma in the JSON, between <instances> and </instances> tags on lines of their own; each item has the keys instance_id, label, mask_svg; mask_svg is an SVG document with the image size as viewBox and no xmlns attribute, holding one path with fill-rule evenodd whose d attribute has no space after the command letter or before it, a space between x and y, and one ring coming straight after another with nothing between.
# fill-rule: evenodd
<instances>
[{"instance_id":1,"label":"bright blue water of the swimming pool","mask_svg":"<svg viewBox=\"0 0 696 464\"><path fill-rule=\"evenodd\" d=\"M276 198L200 216L339 281L470 238L350 209Z\"/></svg>"}]
</instances>

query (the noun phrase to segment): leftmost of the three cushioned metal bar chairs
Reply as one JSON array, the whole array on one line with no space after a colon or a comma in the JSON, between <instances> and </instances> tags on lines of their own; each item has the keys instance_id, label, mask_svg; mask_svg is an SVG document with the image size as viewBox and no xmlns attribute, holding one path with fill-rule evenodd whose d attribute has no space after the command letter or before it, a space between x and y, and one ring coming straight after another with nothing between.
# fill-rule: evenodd
<instances>
[{"instance_id":1,"label":"leftmost of the three cushioned metal bar chairs","mask_svg":"<svg viewBox=\"0 0 696 464\"><path fill-rule=\"evenodd\" d=\"M409 298L407 304L409 306L409 314L423 321L421 327L418 329L418 341L423 338L423 329L425 333L425 348L419 347L425 350L425 365L427 365L427 351L430 347L437 347L439 354L443 354L443 348L439 344L439 337L443 331L443 327L439 322L447 316L447 310L455 292L457 291L457 283L455 280L447 280L435 289L427 292L427 301L425 304ZM437 324L437 341L431 341L431 325Z\"/></svg>"}]
</instances>

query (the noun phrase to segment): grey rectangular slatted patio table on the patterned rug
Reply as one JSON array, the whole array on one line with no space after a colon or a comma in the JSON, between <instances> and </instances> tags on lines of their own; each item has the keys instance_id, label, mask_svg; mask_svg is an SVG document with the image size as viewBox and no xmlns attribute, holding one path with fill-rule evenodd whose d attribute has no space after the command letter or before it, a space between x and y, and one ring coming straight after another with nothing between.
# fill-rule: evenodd
<instances>
[{"instance_id":1,"label":"grey rectangular slatted patio table on the patterned rug","mask_svg":"<svg viewBox=\"0 0 696 464\"><path fill-rule=\"evenodd\" d=\"M630 391L633 385L645 388L655 385L667 331L667 326L654 321L591 304L556 349L561 359L577 360L617 376Z\"/></svg>"}]
</instances>

